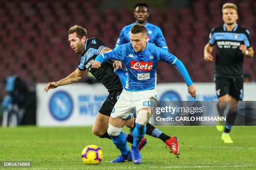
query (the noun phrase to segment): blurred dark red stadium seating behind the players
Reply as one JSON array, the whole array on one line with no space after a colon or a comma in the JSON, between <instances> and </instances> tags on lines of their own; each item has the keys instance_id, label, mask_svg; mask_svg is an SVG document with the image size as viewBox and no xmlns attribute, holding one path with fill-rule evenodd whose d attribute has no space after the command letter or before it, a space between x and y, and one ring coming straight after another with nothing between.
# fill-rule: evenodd
<instances>
[{"instance_id":1,"label":"blurred dark red stadium seating behind the players","mask_svg":"<svg viewBox=\"0 0 256 170\"><path fill-rule=\"evenodd\" d=\"M110 48L121 29L134 23L136 0L0 1L0 79L18 75L29 87L57 81L73 72L79 55L68 43L73 25L87 28L89 37L100 37ZM187 67L194 82L213 82L214 62L203 60L210 30L223 24L223 0L148 0L149 23L164 33L169 51ZM238 5L238 24L251 33L254 45L256 2L230 0ZM256 60L245 58L243 70L256 80ZM158 82L183 82L177 70L164 62L158 65ZM83 82L86 76L81 81ZM0 83L0 99L6 94Z\"/></svg>"}]
</instances>

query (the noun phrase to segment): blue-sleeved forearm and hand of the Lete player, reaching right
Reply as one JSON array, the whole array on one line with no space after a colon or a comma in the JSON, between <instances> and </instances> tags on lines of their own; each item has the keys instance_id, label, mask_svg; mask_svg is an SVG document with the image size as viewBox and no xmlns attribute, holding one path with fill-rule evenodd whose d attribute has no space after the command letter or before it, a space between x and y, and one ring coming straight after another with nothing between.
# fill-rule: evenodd
<instances>
[{"instance_id":1,"label":"blue-sleeved forearm and hand of the Lete player, reaching right","mask_svg":"<svg viewBox=\"0 0 256 170\"><path fill-rule=\"evenodd\" d=\"M176 61L174 61L173 65L177 68L177 70L179 70L179 73L182 75L182 77L186 81L187 92L191 95L191 97L194 97L194 99L195 99L195 97L197 95L197 90L196 90L195 85L193 84L192 80L189 77L187 69L185 68L185 66L179 59L176 59Z\"/></svg>"}]
</instances>

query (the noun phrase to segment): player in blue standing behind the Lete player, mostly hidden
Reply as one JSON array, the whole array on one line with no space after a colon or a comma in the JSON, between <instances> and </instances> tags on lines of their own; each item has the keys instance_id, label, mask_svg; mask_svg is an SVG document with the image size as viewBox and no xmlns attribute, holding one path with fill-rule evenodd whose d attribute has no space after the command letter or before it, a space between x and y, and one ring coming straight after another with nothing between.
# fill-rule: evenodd
<instances>
[{"instance_id":1,"label":"player in blue standing behind the Lete player, mostly hidden","mask_svg":"<svg viewBox=\"0 0 256 170\"><path fill-rule=\"evenodd\" d=\"M168 47L161 29L158 26L147 22L147 18L149 17L148 4L144 2L139 2L135 5L134 8L134 17L136 18L136 22L127 25L122 29L115 47L130 42L131 27L135 24L143 24L145 25L148 32L147 42L150 42L157 47L163 48L164 50L168 51Z\"/></svg>"}]
</instances>

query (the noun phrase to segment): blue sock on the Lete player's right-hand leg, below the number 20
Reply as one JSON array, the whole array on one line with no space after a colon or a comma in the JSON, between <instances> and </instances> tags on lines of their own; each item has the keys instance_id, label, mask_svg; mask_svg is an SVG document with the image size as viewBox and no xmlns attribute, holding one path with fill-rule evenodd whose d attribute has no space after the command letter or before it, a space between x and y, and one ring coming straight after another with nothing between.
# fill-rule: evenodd
<instances>
[{"instance_id":1,"label":"blue sock on the Lete player's right-hand leg, below the number 20","mask_svg":"<svg viewBox=\"0 0 256 170\"><path fill-rule=\"evenodd\" d=\"M138 148L145 133L146 126L136 123L136 126L133 130L133 147Z\"/></svg>"}]
</instances>

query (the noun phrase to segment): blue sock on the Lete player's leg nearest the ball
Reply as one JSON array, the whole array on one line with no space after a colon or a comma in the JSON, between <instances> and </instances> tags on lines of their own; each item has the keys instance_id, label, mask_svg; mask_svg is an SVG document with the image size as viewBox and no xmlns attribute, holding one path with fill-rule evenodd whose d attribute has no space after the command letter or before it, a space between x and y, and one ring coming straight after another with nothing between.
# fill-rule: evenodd
<instances>
[{"instance_id":1,"label":"blue sock on the Lete player's leg nearest the ball","mask_svg":"<svg viewBox=\"0 0 256 170\"><path fill-rule=\"evenodd\" d=\"M110 136L112 138L115 147L121 151L121 155L126 155L129 152L129 148L126 142L126 138L123 132L117 136Z\"/></svg>"}]
</instances>

